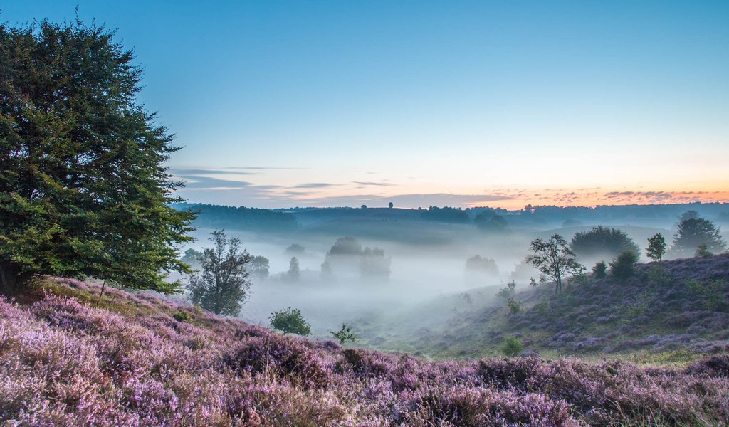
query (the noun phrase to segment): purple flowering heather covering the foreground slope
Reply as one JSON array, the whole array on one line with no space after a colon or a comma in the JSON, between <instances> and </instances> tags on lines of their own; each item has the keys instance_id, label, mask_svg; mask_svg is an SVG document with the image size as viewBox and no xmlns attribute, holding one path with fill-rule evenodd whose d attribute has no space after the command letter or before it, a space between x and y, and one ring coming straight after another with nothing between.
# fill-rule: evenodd
<instances>
[{"instance_id":1,"label":"purple flowering heather covering the foreground slope","mask_svg":"<svg viewBox=\"0 0 729 427\"><path fill-rule=\"evenodd\" d=\"M7 426L727 425L729 361L427 361L55 280L0 299ZM184 313L181 315L180 313ZM178 319L182 319L178 320Z\"/></svg>"}]
</instances>

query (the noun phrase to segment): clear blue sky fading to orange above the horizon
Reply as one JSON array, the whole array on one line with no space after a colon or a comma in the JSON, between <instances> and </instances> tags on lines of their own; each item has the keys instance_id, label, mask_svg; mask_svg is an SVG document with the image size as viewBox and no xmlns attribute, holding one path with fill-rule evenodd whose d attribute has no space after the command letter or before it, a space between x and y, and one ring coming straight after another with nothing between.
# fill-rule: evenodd
<instances>
[{"instance_id":1,"label":"clear blue sky fading to orange above the horizon","mask_svg":"<svg viewBox=\"0 0 729 427\"><path fill-rule=\"evenodd\" d=\"M4 1L117 28L190 202L729 201L729 1Z\"/></svg>"}]
</instances>

